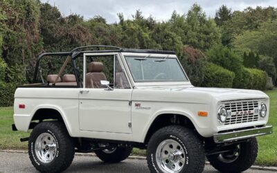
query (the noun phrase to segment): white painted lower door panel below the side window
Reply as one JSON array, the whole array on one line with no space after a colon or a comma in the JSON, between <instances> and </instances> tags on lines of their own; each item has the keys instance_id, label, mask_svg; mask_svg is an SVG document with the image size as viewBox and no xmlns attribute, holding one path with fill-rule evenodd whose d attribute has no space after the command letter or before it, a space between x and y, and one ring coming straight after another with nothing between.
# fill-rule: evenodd
<instances>
[{"instance_id":1,"label":"white painted lower door panel below the side window","mask_svg":"<svg viewBox=\"0 0 277 173\"><path fill-rule=\"evenodd\" d=\"M80 94L80 130L132 134L131 89L84 90L89 92Z\"/></svg>"}]
</instances>

